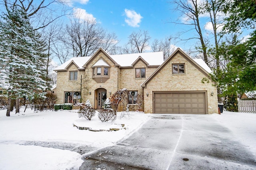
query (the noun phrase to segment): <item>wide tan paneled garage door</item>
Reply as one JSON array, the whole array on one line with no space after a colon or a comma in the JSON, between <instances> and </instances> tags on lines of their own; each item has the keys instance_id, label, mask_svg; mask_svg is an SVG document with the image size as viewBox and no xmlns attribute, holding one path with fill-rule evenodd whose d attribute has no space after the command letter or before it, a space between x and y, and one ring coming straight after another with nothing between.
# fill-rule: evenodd
<instances>
[{"instance_id":1,"label":"wide tan paneled garage door","mask_svg":"<svg viewBox=\"0 0 256 170\"><path fill-rule=\"evenodd\" d=\"M154 93L154 113L206 114L205 93Z\"/></svg>"}]
</instances>

